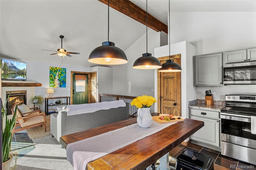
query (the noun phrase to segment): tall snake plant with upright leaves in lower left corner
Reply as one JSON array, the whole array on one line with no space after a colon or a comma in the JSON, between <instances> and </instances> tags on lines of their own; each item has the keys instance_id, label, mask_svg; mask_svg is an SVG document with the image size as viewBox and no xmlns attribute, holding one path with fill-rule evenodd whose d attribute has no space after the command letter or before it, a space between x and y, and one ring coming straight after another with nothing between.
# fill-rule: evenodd
<instances>
[{"instance_id":1,"label":"tall snake plant with upright leaves in lower left corner","mask_svg":"<svg viewBox=\"0 0 256 170\"><path fill-rule=\"evenodd\" d=\"M10 150L11 150L11 143L12 143L12 130L14 129L17 121L16 111L17 111L18 105L16 105L16 108L14 109L14 114L12 118L8 119L6 103L9 97L10 97L10 94L6 99L4 106L2 104L2 162L3 162L2 169L3 170L9 170L10 164L14 159L14 156L10 155ZM3 126L3 121L5 121L5 126Z\"/></svg>"}]
</instances>

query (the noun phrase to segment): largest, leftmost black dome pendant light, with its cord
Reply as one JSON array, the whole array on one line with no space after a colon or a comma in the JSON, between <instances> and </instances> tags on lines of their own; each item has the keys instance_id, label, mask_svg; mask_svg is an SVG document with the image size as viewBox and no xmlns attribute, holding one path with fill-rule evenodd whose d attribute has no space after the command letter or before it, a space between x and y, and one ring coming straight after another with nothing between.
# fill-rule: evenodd
<instances>
[{"instance_id":1,"label":"largest, leftmost black dome pendant light, with its cord","mask_svg":"<svg viewBox=\"0 0 256 170\"><path fill-rule=\"evenodd\" d=\"M89 62L104 65L118 65L127 63L127 57L122 49L109 42L109 0L108 0L108 41L96 47L89 55Z\"/></svg>"}]
</instances>

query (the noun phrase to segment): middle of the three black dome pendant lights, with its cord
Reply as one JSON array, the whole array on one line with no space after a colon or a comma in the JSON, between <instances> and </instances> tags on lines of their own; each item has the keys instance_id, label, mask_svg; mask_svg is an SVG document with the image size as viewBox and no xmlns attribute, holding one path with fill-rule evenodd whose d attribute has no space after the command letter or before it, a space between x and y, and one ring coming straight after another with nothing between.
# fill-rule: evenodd
<instances>
[{"instance_id":1,"label":"middle of the three black dome pendant lights, with its cord","mask_svg":"<svg viewBox=\"0 0 256 170\"><path fill-rule=\"evenodd\" d=\"M160 61L156 57L153 57L151 53L148 53L148 0L146 0L146 37L147 52L142 54L142 57L136 59L132 68L159 69L162 67Z\"/></svg>"}]
</instances>

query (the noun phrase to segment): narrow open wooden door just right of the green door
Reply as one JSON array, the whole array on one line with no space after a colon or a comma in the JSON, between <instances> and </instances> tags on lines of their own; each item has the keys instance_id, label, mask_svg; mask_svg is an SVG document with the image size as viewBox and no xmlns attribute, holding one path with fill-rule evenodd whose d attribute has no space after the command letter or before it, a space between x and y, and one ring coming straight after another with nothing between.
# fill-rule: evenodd
<instances>
[{"instance_id":1,"label":"narrow open wooden door just right of the green door","mask_svg":"<svg viewBox=\"0 0 256 170\"><path fill-rule=\"evenodd\" d=\"M97 72L89 74L90 90L89 90L89 103L97 102Z\"/></svg>"}]
</instances>

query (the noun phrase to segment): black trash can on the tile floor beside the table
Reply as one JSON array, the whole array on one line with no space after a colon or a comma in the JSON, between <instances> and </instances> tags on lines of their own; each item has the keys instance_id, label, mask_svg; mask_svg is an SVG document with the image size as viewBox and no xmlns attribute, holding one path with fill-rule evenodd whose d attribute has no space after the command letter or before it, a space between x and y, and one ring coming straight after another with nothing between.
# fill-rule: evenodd
<instances>
[{"instance_id":1,"label":"black trash can on the tile floor beside the table","mask_svg":"<svg viewBox=\"0 0 256 170\"><path fill-rule=\"evenodd\" d=\"M177 157L176 170L213 170L213 159L192 150L185 149Z\"/></svg>"}]
</instances>

